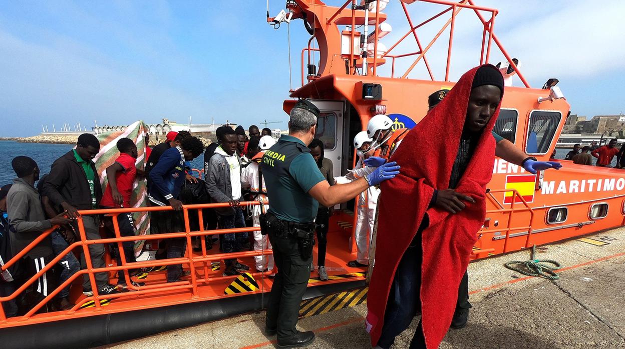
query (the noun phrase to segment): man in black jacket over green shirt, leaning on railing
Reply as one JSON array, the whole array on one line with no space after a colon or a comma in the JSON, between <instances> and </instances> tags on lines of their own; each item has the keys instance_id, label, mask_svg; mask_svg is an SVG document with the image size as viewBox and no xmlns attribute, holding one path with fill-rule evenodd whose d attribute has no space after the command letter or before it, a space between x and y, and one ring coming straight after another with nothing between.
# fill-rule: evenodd
<instances>
[{"instance_id":1,"label":"man in black jacket over green shirt, leaning on railing","mask_svg":"<svg viewBox=\"0 0 625 349\"><path fill-rule=\"evenodd\" d=\"M67 154L59 157L54 164L50 174L47 176L43 186L43 195L47 196L57 212L64 212L71 219L78 219L81 215L78 210L98 209L102 198L102 187L98 178L98 170L93 162L98 155L100 143L93 134L81 134L78 137L76 149L70 150ZM95 215L85 215L83 219L84 232L88 240L98 240L102 238L99 232L99 217ZM78 232L78 226L74 223L74 229ZM104 244L97 243L89 245L89 255L91 255L91 266L93 268L104 268ZM87 267L86 259L81 255L81 265ZM108 295L117 292L117 287L109 284L109 275L106 272L95 273L96 287L99 295ZM89 274L84 274L83 281L84 295L93 295L93 288L89 280Z\"/></svg>"}]
</instances>

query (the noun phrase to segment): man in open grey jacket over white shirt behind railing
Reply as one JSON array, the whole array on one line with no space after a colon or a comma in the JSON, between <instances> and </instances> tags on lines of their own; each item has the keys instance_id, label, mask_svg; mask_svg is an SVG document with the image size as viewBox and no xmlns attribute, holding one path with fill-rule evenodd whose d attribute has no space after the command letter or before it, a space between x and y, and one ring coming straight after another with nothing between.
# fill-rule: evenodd
<instances>
[{"instance_id":1,"label":"man in open grey jacket over white shirt behind railing","mask_svg":"<svg viewBox=\"0 0 625 349\"><path fill-rule=\"evenodd\" d=\"M243 211L239 207L241 199L241 158L236 154L237 135L227 129L221 137L221 145L215 150L206 172L206 191L211 202L228 202L230 207L215 209L219 228L232 229L245 227ZM220 235L224 253L239 252L249 240L247 233L227 233ZM236 258L224 260L224 276L238 275L247 271L247 265Z\"/></svg>"}]
</instances>

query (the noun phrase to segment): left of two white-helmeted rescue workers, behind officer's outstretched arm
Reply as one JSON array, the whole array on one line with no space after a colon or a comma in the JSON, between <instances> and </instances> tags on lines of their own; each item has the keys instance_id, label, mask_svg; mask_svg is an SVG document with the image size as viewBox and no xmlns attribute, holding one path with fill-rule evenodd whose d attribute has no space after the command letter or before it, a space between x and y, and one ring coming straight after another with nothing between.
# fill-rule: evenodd
<instances>
[{"instance_id":1,"label":"left of two white-helmeted rescue workers, behind officer's outstretched arm","mask_svg":"<svg viewBox=\"0 0 625 349\"><path fill-rule=\"evenodd\" d=\"M356 149L356 154L358 155L356 169L365 167L362 161L367 159L371 153L365 154L364 152L369 149L371 142L373 142L373 139L367 136L366 131L359 132L354 137L354 149ZM358 198L356 228L354 229L357 255L356 260L347 263L348 267L358 268L369 265L369 244L371 243L373 225L376 219L377 195L379 194L380 190L373 186L362 192Z\"/></svg>"}]
</instances>

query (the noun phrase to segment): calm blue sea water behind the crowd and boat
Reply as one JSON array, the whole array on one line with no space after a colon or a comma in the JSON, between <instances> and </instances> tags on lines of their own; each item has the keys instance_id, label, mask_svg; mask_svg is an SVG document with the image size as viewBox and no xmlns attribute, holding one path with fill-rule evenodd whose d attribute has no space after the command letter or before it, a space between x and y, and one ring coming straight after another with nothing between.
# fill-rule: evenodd
<instances>
[{"instance_id":1,"label":"calm blue sea water behind the crowd and boat","mask_svg":"<svg viewBox=\"0 0 625 349\"><path fill-rule=\"evenodd\" d=\"M41 143L18 143L10 140L0 140L0 185L12 183L15 172L11 168L11 160L19 155L32 157L39 165L41 174L50 172L54 160L69 152L74 146L71 144L41 144ZM557 149L556 158L564 159L569 149ZM616 157L612 166L616 165ZM204 168L204 155L200 155L191 162L194 169Z\"/></svg>"}]
</instances>

